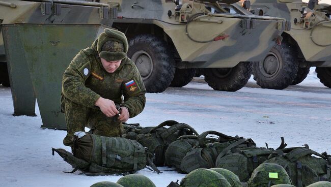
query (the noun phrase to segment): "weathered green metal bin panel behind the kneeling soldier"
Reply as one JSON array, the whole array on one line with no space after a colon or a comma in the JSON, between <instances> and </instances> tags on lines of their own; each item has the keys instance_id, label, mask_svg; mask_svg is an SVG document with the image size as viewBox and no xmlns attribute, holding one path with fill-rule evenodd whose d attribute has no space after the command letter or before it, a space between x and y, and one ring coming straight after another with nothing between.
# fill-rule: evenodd
<instances>
[{"instance_id":1,"label":"weathered green metal bin panel behind the kneeling soldier","mask_svg":"<svg viewBox=\"0 0 331 187\"><path fill-rule=\"evenodd\" d=\"M12 79L32 82L44 128L66 129L61 113L62 76L80 49L91 46L106 26L100 24L4 24ZM11 41L11 42L9 42ZM21 61L26 65L21 65ZM18 71L19 70L19 71ZM29 75L18 75L25 71ZM31 77L32 81L29 81ZM12 82L17 87L17 82ZM13 96L14 97L14 96ZM25 99L24 96L19 96Z\"/></svg>"}]
</instances>

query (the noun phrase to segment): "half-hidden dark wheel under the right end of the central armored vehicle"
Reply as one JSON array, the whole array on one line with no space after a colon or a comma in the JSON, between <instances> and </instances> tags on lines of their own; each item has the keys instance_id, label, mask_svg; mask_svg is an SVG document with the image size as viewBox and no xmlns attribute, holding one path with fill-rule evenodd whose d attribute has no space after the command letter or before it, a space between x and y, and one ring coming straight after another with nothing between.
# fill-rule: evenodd
<instances>
[{"instance_id":1,"label":"half-hidden dark wheel under the right end of the central armored vehicle","mask_svg":"<svg viewBox=\"0 0 331 187\"><path fill-rule=\"evenodd\" d=\"M251 63L241 62L233 68L203 69L205 81L214 90L237 91L251 77Z\"/></svg>"}]
</instances>

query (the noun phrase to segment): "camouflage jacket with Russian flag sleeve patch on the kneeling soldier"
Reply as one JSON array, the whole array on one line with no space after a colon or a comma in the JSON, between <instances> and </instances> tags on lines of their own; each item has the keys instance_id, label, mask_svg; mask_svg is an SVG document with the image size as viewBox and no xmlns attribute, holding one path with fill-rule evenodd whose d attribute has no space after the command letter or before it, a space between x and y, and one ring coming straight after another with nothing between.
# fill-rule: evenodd
<instances>
[{"instance_id":1,"label":"camouflage jacket with Russian flag sleeve patch on the kneeling soldier","mask_svg":"<svg viewBox=\"0 0 331 187\"><path fill-rule=\"evenodd\" d=\"M92 47L80 50L73 58L64 72L62 94L90 108L96 107L94 104L100 97L113 100L128 108L130 118L141 113L145 107L146 89L136 66L125 57L114 73L107 73L96 45L97 41Z\"/></svg>"}]
</instances>

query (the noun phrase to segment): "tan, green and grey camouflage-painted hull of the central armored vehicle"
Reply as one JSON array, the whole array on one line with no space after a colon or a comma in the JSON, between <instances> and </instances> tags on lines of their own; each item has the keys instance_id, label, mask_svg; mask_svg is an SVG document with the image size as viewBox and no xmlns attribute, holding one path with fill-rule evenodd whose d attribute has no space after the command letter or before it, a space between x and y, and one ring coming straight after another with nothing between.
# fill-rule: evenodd
<instances>
[{"instance_id":1,"label":"tan, green and grey camouflage-painted hull of the central armored vehicle","mask_svg":"<svg viewBox=\"0 0 331 187\"><path fill-rule=\"evenodd\" d=\"M101 1L106 2L106 1ZM133 1L114 0L113 6L119 8L118 15L123 19L114 23L157 25L162 28L165 36L169 36L181 58L180 68L232 68L240 61L260 61L275 44L274 40L282 31L278 24L285 21L282 18L259 17L250 15L239 6L207 3L223 11L213 14L205 8L205 4L196 1L183 1L180 11L175 11L172 1ZM191 6L192 8L186 8ZM226 12L222 7L231 7L236 14ZM171 16L167 12L171 11ZM205 13L188 24L188 17L197 13ZM181 20L181 18L184 20ZM250 20L252 28L246 28L244 21ZM254 23L254 26L253 26ZM131 27L130 27L131 28ZM125 29L124 31L125 32ZM127 30L130 32L130 30ZM197 43L190 40L187 34L199 41L213 40L225 37L223 40ZM134 33L132 33L134 35Z\"/></svg>"}]
</instances>

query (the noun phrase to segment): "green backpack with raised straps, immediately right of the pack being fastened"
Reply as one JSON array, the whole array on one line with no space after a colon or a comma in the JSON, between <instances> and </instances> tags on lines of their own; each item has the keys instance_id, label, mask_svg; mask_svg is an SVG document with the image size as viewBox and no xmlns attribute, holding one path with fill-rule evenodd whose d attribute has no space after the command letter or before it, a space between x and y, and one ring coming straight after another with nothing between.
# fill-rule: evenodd
<instances>
[{"instance_id":1,"label":"green backpack with raised straps, immediately right of the pack being fastened","mask_svg":"<svg viewBox=\"0 0 331 187\"><path fill-rule=\"evenodd\" d=\"M164 126L170 126L164 129ZM155 154L154 164L156 166L164 165L164 153L170 143L177 140L182 135L199 135L192 127L185 123L177 121L164 121L157 127L150 130L148 134L139 134L137 141L147 147L149 151Z\"/></svg>"}]
</instances>

